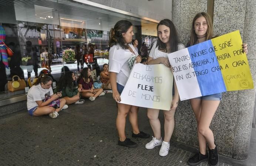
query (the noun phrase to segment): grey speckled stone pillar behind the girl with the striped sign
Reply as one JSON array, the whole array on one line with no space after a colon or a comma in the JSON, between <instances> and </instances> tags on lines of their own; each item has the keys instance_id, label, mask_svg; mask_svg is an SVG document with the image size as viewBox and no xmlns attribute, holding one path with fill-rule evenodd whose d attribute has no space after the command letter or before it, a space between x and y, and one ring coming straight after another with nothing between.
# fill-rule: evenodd
<instances>
[{"instance_id":1,"label":"grey speckled stone pillar behind the girl with the striped sign","mask_svg":"<svg viewBox=\"0 0 256 166\"><path fill-rule=\"evenodd\" d=\"M172 20L178 29L180 41L186 44L192 19L196 13L206 11L205 1L173 1ZM247 58L256 80L256 2L247 1L214 1L213 27L215 35L223 35L240 30L243 41L249 45ZM219 154L234 159L246 159L249 153L250 134L252 129L255 89L225 92L222 101L213 117L210 128ZM180 102L175 113L175 131L172 139L186 145L198 147L196 120L189 101Z\"/></svg>"}]
</instances>

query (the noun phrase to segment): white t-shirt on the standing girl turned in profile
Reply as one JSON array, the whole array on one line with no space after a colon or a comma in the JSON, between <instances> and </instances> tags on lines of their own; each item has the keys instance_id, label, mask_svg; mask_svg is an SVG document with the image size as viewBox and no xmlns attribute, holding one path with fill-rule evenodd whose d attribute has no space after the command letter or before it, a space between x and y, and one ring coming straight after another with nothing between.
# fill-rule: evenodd
<instances>
[{"instance_id":1,"label":"white t-shirt on the standing girl turned in profile","mask_svg":"<svg viewBox=\"0 0 256 166\"><path fill-rule=\"evenodd\" d=\"M122 86L125 86L131 72L128 65L129 60L138 56L138 52L133 45L128 45L132 48L134 53L128 49L123 49L119 44L113 45L109 51L108 71L117 73L117 83Z\"/></svg>"}]
</instances>

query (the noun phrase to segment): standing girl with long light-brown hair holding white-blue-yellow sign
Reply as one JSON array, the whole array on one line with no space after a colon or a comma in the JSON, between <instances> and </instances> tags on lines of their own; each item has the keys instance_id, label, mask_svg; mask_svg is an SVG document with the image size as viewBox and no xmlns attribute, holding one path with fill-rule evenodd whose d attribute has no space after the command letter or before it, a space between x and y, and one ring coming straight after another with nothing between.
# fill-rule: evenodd
<instances>
[{"instance_id":1,"label":"standing girl with long light-brown hair holding white-blue-yellow sign","mask_svg":"<svg viewBox=\"0 0 256 166\"><path fill-rule=\"evenodd\" d=\"M191 28L191 37L188 46L192 46L213 38L213 24L210 16L205 13L198 13L193 19ZM243 51L247 54L247 44L243 44ZM209 163L211 166L218 165L218 151L214 142L212 130L209 128L213 115L219 106L221 93L201 96L190 99L190 103L197 121L197 133L200 151L188 160L190 166L196 166L203 161L208 160L206 152L206 143L208 143Z\"/></svg>"}]
</instances>

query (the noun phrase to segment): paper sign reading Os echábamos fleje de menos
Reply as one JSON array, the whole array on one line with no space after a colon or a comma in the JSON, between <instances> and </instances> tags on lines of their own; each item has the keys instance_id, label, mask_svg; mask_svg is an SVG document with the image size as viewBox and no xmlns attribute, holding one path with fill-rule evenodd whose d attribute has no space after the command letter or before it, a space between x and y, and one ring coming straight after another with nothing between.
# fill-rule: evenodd
<instances>
[{"instance_id":1,"label":"paper sign reading Os ech\u00e1bamos fleje de menos","mask_svg":"<svg viewBox=\"0 0 256 166\"><path fill-rule=\"evenodd\" d=\"M121 103L169 110L173 74L163 64L135 64L121 94Z\"/></svg>"}]
</instances>

